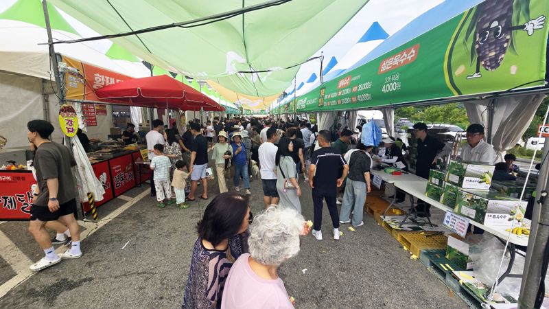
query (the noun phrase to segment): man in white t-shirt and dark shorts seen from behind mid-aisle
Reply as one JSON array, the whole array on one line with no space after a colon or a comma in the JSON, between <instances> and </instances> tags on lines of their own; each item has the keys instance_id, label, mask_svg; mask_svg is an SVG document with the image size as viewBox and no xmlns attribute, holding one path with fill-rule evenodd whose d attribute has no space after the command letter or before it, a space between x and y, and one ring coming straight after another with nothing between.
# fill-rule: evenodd
<instances>
[{"instance_id":1,"label":"man in white t-shirt and dark shorts seen from behind mid-aisle","mask_svg":"<svg viewBox=\"0 0 549 309\"><path fill-rule=\"evenodd\" d=\"M279 148L274 145L278 141L277 129L268 128L266 131L266 140L259 146L259 172L261 174L261 184L263 185L263 201L265 207L277 205L279 203L279 193L277 191L277 172L275 159Z\"/></svg>"}]
</instances>

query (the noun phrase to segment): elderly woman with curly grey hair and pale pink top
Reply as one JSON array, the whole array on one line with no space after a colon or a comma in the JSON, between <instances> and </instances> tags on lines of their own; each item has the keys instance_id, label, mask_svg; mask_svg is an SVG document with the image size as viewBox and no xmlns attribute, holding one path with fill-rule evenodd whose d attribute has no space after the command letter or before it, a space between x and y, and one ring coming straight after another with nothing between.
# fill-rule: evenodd
<instances>
[{"instance_id":1,"label":"elderly woman with curly grey hair and pale pink top","mask_svg":"<svg viewBox=\"0 0 549 309\"><path fill-rule=\"evenodd\" d=\"M255 216L248 238L250 253L233 264L221 308L294 308L277 269L299 253L299 236L309 231L295 209L271 205Z\"/></svg>"}]
</instances>

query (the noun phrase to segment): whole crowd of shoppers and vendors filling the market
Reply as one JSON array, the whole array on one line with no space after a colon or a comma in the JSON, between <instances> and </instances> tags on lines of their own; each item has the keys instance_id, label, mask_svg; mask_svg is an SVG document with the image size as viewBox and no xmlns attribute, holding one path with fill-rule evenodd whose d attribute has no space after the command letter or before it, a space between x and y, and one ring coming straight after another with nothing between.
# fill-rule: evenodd
<instances>
[{"instance_id":1,"label":"whole crowd of shoppers and vendors filling the market","mask_svg":"<svg viewBox=\"0 0 549 309\"><path fill-rule=\"evenodd\" d=\"M73 216L71 167L75 161L65 146L49 140L54 130L49 122L33 120L27 128L36 152L34 175L38 181L29 229L45 252L31 269L39 271L62 258L82 255L80 231ZM124 136L130 140L131 131L128 125ZM414 124L413 134L418 151L415 172L427 179L437 159L449 155L451 148L429 135L424 123ZM329 130L317 130L305 119L286 123L215 117L206 126L196 120L189 122L180 136L175 128L165 129L161 120L152 122L145 139L152 170L151 196L156 196L157 206L176 203L188 208L196 198L209 200L209 152L220 190L196 227L198 238L182 308L293 308L277 268L299 253L300 236L312 231L314 238L323 240L323 203L329 211L333 238L339 240L340 225L364 225L363 208L371 192L373 164L377 161L408 171L397 139L386 137L382 145L366 145L353 142L353 135L344 128L334 136ZM471 124L466 137L460 159L495 163L493 147L483 140L484 127ZM374 157L372 152L378 146L384 146L385 152ZM509 155L505 162L496 164L494 179L512 177L510 172L517 170L515 159ZM254 178L261 179L265 206L255 218L249 204L250 181ZM231 190L227 185L230 179ZM313 222L305 222L301 215L300 181L312 189ZM197 194L199 184L202 194ZM338 201L339 194L342 201ZM404 192L395 195L398 202L404 201ZM418 215L429 216L429 207L419 201ZM46 228L58 231L54 240L49 240ZM67 238L70 249L58 255L52 242L67 242Z\"/></svg>"}]
</instances>

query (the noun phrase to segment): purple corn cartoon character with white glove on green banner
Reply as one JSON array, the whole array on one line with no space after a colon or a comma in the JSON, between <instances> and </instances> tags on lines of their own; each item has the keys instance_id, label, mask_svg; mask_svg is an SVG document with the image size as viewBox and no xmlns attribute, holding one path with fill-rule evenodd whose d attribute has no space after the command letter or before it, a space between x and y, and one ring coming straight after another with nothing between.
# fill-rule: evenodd
<instances>
[{"instance_id":1,"label":"purple corn cartoon character with white glove on green banner","mask_svg":"<svg viewBox=\"0 0 549 309\"><path fill-rule=\"evenodd\" d=\"M515 0L517 2L517 14L524 12L528 15L530 0ZM513 36L511 32L524 30L528 36L534 34L534 30L544 27L546 16L541 15L524 25L511 25L513 23L513 0L487 0L478 5L473 19L467 29L465 39L475 32L475 41L471 46L471 62L476 58L476 72L467 76L467 79L480 78L480 65L487 71L498 69L509 46L513 49Z\"/></svg>"}]
</instances>

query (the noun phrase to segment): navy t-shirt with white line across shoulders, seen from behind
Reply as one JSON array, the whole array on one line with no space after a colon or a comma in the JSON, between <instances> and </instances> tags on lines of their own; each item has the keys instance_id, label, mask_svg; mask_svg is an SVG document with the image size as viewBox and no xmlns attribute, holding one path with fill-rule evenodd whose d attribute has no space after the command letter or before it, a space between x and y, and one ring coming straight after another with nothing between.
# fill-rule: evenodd
<instances>
[{"instance_id":1,"label":"navy t-shirt with white line across shoulders, seen from behind","mask_svg":"<svg viewBox=\"0 0 549 309\"><path fill-rule=\"evenodd\" d=\"M313 185L315 190L336 190L336 182L340 177L340 171L347 162L341 157L338 150L331 147L323 147L311 157L311 164L315 165Z\"/></svg>"}]
</instances>

